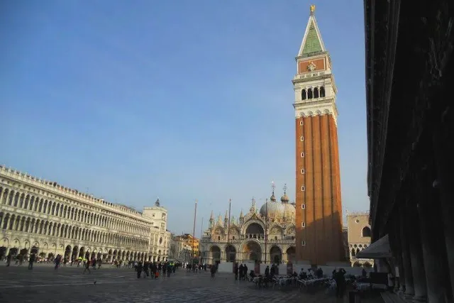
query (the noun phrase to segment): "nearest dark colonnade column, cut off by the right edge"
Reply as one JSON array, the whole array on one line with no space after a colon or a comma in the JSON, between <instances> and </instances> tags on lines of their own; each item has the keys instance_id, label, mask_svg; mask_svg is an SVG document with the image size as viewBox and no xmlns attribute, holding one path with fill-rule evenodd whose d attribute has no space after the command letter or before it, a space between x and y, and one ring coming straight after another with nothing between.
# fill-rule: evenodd
<instances>
[{"instance_id":1,"label":"nearest dark colonnade column, cut off by the right edge","mask_svg":"<svg viewBox=\"0 0 454 303\"><path fill-rule=\"evenodd\" d=\"M445 231L445 249L450 275L450 295L454 293L454 111L446 107L439 117L440 125L433 129L433 151L435 154L437 180L441 202L441 215Z\"/></svg>"}]
</instances>

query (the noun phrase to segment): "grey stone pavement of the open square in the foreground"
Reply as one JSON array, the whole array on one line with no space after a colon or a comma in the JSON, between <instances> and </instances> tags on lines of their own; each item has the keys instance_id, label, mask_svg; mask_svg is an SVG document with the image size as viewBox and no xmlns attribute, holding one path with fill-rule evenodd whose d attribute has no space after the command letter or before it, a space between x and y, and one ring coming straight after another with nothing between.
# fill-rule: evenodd
<instances>
[{"instance_id":1,"label":"grey stone pavement of the open square in the foreground","mask_svg":"<svg viewBox=\"0 0 454 303\"><path fill-rule=\"evenodd\" d=\"M229 274L212 280L209 272L177 270L171 277L152 280L137 279L133 269L106 267L91 275L82 275L83 270L75 266L54 270L50 265L28 270L25 264L8 268L1 264L0 302L336 302L324 292L258 289Z\"/></svg>"}]
</instances>

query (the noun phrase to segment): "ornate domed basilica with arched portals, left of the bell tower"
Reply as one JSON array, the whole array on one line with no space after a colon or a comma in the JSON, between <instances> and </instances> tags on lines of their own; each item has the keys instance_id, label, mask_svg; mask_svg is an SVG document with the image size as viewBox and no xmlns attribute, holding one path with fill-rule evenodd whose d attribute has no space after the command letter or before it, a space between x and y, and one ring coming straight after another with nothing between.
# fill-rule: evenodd
<instances>
[{"instance_id":1,"label":"ornate domed basilica with arched portals, left of the bell tower","mask_svg":"<svg viewBox=\"0 0 454 303\"><path fill-rule=\"evenodd\" d=\"M201 262L287 263L295 256L295 206L285 194L277 202L273 190L270 200L257 209L253 199L249 212L238 219L222 219L211 212L209 228L200 241Z\"/></svg>"}]
</instances>

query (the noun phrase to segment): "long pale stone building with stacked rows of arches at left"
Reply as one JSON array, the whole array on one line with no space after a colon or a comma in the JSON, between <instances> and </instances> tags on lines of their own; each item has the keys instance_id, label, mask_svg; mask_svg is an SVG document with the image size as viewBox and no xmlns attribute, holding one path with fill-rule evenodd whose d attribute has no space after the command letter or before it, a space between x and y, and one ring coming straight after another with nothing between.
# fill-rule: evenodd
<instances>
[{"instance_id":1,"label":"long pale stone building with stacked rows of arches at left","mask_svg":"<svg viewBox=\"0 0 454 303\"><path fill-rule=\"evenodd\" d=\"M143 212L0 166L0 258L166 260L167 210Z\"/></svg>"}]
</instances>

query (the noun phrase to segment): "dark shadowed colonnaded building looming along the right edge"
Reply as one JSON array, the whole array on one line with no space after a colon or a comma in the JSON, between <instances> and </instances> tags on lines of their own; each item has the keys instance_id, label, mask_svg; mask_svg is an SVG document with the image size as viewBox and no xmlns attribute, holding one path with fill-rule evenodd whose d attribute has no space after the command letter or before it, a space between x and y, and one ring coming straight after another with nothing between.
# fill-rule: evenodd
<instances>
[{"instance_id":1,"label":"dark shadowed colonnaded building looming along the right edge","mask_svg":"<svg viewBox=\"0 0 454 303\"><path fill-rule=\"evenodd\" d=\"M372 243L411 302L453 302L453 1L364 1ZM384 246L386 245L385 249Z\"/></svg>"}]
</instances>

